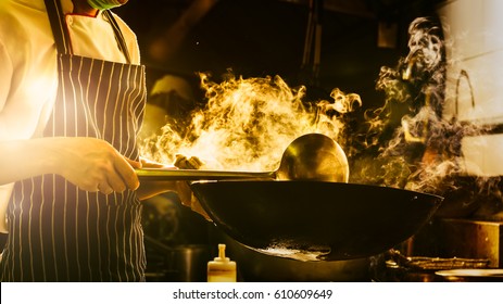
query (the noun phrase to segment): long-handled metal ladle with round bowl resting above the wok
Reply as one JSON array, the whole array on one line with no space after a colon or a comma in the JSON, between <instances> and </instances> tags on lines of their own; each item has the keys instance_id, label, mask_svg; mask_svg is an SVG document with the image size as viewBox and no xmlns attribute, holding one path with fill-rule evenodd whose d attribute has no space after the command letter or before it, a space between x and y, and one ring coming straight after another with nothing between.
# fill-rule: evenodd
<instances>
[{"instance_id":1,"label":"long-handled metal ladle with round bowl resting above the wok","mask_svg":"<svg viewBox=\"0 0 503 304\"><path fill-rule=\"evenodd\" d=\"M349 164L342 148L322 134L306 134L285 150L274 172L227 172L199 169L143 168L140 180L278 179L348 182Z\"/></svg>"}]
</instances>

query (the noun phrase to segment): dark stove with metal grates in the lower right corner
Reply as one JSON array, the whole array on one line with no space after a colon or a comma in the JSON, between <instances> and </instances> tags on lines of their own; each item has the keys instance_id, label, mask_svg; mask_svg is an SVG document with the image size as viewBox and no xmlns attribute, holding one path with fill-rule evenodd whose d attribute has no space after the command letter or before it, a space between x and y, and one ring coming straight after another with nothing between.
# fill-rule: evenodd
<instances>
[{"instance_id":1,"label":"dark stove with metal grates in the lower right corner","mask_svg":"<svg viewBox=\"0 0 503 304\"><path fill-rule=\"evenodd\" d=\"M417 235L388 253L387 281L503 280L502 221L433 218ZM448 276L469 273L470 278ZM487 271L490 276L486 275ZM447 276L441 276L445 273ZM487 276L487 277L486 277Z\"/></svg>"}]
</instances>

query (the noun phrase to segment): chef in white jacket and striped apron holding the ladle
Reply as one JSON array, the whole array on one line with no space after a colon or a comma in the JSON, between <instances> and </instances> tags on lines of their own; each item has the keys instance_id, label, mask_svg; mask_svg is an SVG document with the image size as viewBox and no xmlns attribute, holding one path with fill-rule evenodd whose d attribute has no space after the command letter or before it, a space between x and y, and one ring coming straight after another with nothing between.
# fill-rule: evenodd
<instances>
[{"instance_id":1,"label":"chef in white jacket and striped apron holding the ladle","mask_svg":"<svg viewBox=\"0 0 503 304\"><path fill-rule=\"evenodd\" d=\"M177 188L135 174L153 164L125 2L0 1L1 281L144 280L140 200Z\"/></svg>"}]
</instances>

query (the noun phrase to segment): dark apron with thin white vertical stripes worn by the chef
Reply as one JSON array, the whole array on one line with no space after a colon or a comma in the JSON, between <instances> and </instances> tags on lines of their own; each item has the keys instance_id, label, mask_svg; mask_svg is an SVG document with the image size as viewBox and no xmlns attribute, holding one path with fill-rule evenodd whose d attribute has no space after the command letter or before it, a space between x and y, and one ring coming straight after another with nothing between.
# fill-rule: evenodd
<instances>
[{"instance_id":1,"label":"dark apron with thin white vertical stripes worn by the chef","mask_svg":"<svg viewBox=\"0 0 503 304\"><path fill-rule=\"evenodd\" d=\"M59 0L46 0L58 47L58 99L45 137L93 137L138 160L144 66L72 54ZM117 46L124 38L110 12ZM146 255L135 191L86 192L61 176L17 182L8 210L2 281L142 281Z\"/></svg>"}]
</instances>

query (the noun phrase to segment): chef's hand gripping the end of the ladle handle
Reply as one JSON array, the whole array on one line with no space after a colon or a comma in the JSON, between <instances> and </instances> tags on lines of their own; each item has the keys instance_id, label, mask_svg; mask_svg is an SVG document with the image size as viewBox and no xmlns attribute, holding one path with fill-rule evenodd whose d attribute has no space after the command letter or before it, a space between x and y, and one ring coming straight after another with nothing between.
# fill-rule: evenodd
<instances>
[{"instance_id":1,"label":"chef's hand gripping the end of the ladle handle","mask_svg":"<svg viewBox=\"0 0 503 304\"><path fill-rule=\"evenodd\" d=\"M124 157L104 140L61 138L54 150L55 173L81 190L110 194L139 186L135 168L141 168L141 163Z\"/></svg>"}]
</instances>

